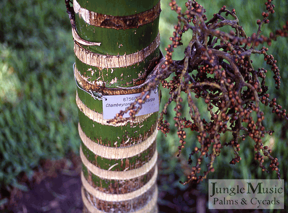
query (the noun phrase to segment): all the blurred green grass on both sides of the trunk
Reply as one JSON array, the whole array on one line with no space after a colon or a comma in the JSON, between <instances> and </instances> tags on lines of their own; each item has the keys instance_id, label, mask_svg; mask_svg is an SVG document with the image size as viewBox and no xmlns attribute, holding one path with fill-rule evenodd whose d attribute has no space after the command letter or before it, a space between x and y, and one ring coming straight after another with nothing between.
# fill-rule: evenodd
<instances>
[{"instance_id":1,"label":"all the blurred green grass on both sides of the trunk","mask_svg":"<svg viewBox=\"0 0 288 213\"><path fill-rule=\"evenodd\" d=\"M168 2L161 0L160 48L163 53L177 22L175 12L171 11ZM259 2L262 2L260 6ZM256 19L261 18L261 12L265 9L264 0L199 3L207 9L208 19L224 4L227 9L235 8L248 35L257 29ZM178 4L184 9L184 0ZM286 1L275 1L275 4L276 13L270 18L270 24L263 28L266 36L270 31L280 28L286 21L284 17L288 17ZM188 44L190 37L191 33L185 33L184 45ZM287 47L288 40L280 38L269 50L278 60L282 75L281 89L276 91L274 82L267 82L269 92L285 108L288 108ZM178 48L173 59L182 59L184 49L185 46ZM260 59L255 56L254 66L268 68L263 58ZM25 172L31 178L32 169L38 166L40 159L59 159L65 157L70 150L78 152L80 139L76 128L78 115L74 101L76 87L72 73L73 62L71 24L64 0L0 2L0 187L15 186L25 190L25 186L17 183L20 173ZM167 100L166 92L163 91L161 106ZM205 114L205 108L202 107L202 111ZM264 111L266 127L275 130L272 136L273 154L281 163L282 177L287 179L288 133L282 130L287 121L272 122L274 115L271 115L271 110ZM169 113L167 119L172 120L173 107L170 107ZM184 181L184 164L180 164L175 157L179 144L173 134L175 132L175 129L171 129L167 137L161 133L158 135L159 155L167 161L167 169L160 172L176 173L179 180ZM187 141L187 148L183 151L183 159L188 159L187 156L195 146L195 133L189 133L188 137L190 141ZM228 137L225 135L222 140ZM272 140L271 137L265 139L267 143ZM215 161L216 172L208 178L275 178L274 173L261 172L258 163L253 160L253 142L247 140L241 146L242 160L239 164L229 165L232 151L225 149ZM182 161L185 163L185 160ZM207 190L205 184L200 187ZM182 187L178 182L175 185Z\"/></svg>"}]
</instances>

